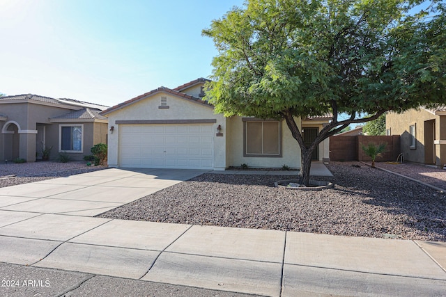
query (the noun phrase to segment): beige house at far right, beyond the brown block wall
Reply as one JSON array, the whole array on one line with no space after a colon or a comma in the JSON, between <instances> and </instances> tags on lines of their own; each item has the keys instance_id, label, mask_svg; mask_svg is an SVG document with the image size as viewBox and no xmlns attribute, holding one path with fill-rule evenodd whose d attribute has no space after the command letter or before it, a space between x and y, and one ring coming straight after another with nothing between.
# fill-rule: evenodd
<instances>
[{"instance_id":1,"label":"beige house at far right, beyond the brown block wall","mask_svg":"<svg viewBox=\"0 0 446 297\"><path fill-rule=\"evenodd\" d=\"M386 135L401 135L404 160L444 166L446 164L446 106L387 113Z\"/></svg>"}]
</instances>

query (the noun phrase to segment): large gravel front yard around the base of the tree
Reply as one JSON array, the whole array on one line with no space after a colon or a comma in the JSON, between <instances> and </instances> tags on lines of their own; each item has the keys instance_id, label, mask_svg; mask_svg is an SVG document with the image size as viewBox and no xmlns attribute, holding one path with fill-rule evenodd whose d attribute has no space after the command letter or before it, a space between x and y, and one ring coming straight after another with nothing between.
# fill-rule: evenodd
<instances>
[{"instance_id":1,"label":"large gravel front yard around the base of the tree","mask_svg":"<svg viewBox=\"0 0 446 297\"><path fill-rule=\"evenodd\" d=\"M358 166L358 167L357 167ZM446 195L363 163L332 162L323 191L275 188L291 176L204 174L102 218L446 241Z\"/></svg>"}]
</instances>

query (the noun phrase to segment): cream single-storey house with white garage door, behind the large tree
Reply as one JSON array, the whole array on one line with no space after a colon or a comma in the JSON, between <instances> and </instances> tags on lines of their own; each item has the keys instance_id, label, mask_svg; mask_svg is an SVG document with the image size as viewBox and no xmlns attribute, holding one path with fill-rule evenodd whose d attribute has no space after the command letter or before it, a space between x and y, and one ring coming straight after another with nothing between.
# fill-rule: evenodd
<instances>
[{"instance_id":1,"label":"cream single-storey house with white garage door, behind the large tree","mask_svg":"<svg viewBox=\"0 0 446 297\"><path fill-rule=\"evenodd\" d=\"M109 119L109 166L300 168L299 145L284 121L215 114L202 100L206 81L160 87L102 111ZM311 142L330 118L298 119L305 141ZM327 139L314 159L328 154Z\"/></svg>"}]
</instances>

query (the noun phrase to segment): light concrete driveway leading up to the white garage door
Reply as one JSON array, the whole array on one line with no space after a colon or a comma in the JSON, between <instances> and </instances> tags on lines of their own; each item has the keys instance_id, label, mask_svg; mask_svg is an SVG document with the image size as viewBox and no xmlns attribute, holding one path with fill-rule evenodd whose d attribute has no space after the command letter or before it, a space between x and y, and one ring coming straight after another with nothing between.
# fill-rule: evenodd
<instances>
[{"instance_id":1,"label":"light concrete driveway leading up to the white garage door","mask_svg":"<svg viewBox=\"0 0 446 297\"><path fill-rule=\"evenodd\" d=\"M8 186L0 188L0 209L96 216L207 171L109 168Z\"/></svg>"}]
</instances>

